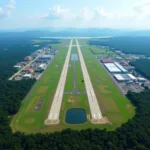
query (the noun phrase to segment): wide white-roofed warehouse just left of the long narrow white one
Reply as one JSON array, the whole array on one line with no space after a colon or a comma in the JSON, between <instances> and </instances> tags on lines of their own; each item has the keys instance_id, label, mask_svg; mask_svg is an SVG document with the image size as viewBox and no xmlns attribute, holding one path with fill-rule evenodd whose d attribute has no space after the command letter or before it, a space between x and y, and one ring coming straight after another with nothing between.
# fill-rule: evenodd
<instances>
[{"instance_id":1,"label":"wide white-roofed warehouse just left of the long narrow white one","mask_svg":"<svg viewBox=\"0 0 150 150\"><path fill-rule=\"evenodd\" d=\"M121 70L114 65L114 63L104 63L104 66L111 73L121 73Z\"/></svg>"}]
</instances>

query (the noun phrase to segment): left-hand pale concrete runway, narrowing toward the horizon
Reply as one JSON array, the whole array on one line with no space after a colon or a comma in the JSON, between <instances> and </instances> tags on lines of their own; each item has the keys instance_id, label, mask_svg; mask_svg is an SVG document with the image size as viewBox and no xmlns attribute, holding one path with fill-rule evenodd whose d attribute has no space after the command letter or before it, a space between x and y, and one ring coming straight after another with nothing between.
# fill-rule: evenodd
<instances>
[{"instance_id":1,"label":"left-hand pale concrete runway, narrowing toward the horizon","mask_svg":"<svg viewBox=\"0 0 150 150\"><path fill-rule=\"evenodd\" d=\"M55 96L53 99L53 103L52 103L48 118L45 120L45 124L47 124L47 125L59 123L59 114L60 114L60 108L61 108L64 88L65 88L65 83L66 83L71 49L72 49L72 40L70 42L66 60L65 60L64 66L63 66L61 76L60 76L60 80L58 82L58 86L56 89L56 93L55 93Z\"/></svg>"}]
</instances>

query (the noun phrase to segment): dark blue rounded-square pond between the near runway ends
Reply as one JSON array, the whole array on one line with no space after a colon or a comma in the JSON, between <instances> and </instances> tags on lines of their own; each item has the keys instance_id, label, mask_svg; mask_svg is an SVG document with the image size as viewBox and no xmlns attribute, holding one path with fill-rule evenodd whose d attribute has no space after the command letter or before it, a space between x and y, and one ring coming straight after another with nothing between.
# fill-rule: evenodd
<instances>
[{"instance_id":1,"label":"dark blue rounded-square pond between the near runway ends","mask_svg":"<svg viewBox=\"0 0 150 150\"><path fill-rule=\"evenodd\" d=\"M84 109L69 109L66 112L66 122L68 124L83 124L86 122L86 112Z\"/></svg>"}]
</instances>

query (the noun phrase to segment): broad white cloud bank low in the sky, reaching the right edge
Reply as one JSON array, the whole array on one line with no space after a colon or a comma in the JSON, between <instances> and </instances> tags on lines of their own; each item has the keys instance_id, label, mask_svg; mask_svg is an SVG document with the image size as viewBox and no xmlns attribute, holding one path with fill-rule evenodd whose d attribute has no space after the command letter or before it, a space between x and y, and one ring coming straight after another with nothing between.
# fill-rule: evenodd
<instances>
[{"instance_id":1,"label":"broad white cloud bank low in the sky, reaching the right edge","mask_svg":"<svg viewBox=\"0 0 150 150\"><path fill-rule=\"evenodd\" d=\"M94 9L84 7L74 12L57 4L49 8L46 13L32 15L29 18L44 19L43 21L56 27L141 28L150 22L149 7L150 0L144 0L133 5L129 12L108 11L102 6Z\"/></svg>"}]
</instances>

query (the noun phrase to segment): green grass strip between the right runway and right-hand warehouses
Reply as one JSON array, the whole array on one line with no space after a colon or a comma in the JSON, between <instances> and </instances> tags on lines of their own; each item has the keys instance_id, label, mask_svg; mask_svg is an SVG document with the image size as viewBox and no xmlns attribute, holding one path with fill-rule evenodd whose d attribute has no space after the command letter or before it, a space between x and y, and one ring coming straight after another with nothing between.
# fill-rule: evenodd
<instances>
[{"instance_id":1,"label":"green grass strip between the right runway and right-hand warehouses","mask_svg":"<svg viewBox=\"0 0 150 150\"><path fill-rule=\"evenodd\" d=\"M82 48L82 53L102 114L113 123L113 127L118 127L134 116L134 107L126 97L121 95L89 48L91 47ZM96 78L99 78L100 82L97 82Z\"/></svg>"}]
</instances>

